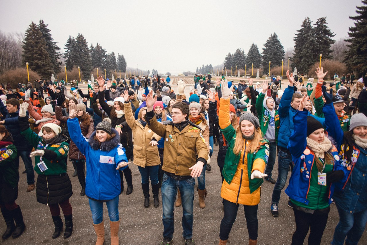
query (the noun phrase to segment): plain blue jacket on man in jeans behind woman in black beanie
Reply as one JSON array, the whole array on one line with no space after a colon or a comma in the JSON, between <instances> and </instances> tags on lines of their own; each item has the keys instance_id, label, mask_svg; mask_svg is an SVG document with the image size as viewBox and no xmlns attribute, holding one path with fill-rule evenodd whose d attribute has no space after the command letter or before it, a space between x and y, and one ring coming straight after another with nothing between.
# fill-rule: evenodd
<instances>
[{"instance_id":1,"label":"plain blue jacket on man in jeans behind woman in black beanie","mask_svg":"<svg viewBox=\"0 0 367 245\"><path fill-rule=\"evenodd\" d=\"M291 135L294 124L293 117L297 110L291 107L292 96L294 94L293 87L288 86L284 89L283 96L281 97L278 107L278 114L280 118L280 128L278 133L278 145L280 147L287 148L289 136ZM318 118L317 116L309 115L318 120L325 127L325 118Z\"/></svg>"}]
</instances>

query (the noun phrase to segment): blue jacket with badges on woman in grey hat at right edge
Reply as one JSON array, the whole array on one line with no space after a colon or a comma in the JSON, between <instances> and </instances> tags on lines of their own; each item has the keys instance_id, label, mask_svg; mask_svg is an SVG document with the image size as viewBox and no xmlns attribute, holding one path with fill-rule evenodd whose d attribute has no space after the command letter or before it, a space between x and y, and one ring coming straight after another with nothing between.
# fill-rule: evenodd
<instances>
[{"instance_id":1,"label":"blue jacket with badges on woman in grey hat at right edge","mask_svg":"<svg viewBox=\"0 0 367 245\"><path fill-rule=\"evenodd\" d=\"M353 147L353 157L344 157L346 146L344 145L344 132L333 106L324 105L325 117L334 117L334 123L327 122L328 133L335 138L338 144L339 158L346 177L336 183L333 199L338 208L348 213L358 213L367 208L367 149L355 145ZM354 161L354 162L353 162Z\"/></svg>"}]
</instances>

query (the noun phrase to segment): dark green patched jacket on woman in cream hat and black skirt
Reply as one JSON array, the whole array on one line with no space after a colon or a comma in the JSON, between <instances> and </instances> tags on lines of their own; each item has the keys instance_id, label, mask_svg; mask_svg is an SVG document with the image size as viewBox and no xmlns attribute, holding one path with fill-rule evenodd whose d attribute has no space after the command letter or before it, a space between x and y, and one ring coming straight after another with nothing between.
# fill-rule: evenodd
<instances>
[{"instance_id":1,"label":"dark green patched jacket on woman in cream hat and black skirt","mask_svg":"<svg viewBox=\"0 0 367 245\"><path fill-rule=\"evenodd\" d=\"M30 128L21 132L21 134L29 141L36 150L44 150L42 156L35 156L36 166L34 170L38 174L58 175L66 173L66 162L68 161L69 144L67 138L63 137L63 141L48 145L43 142L43 138L34 133ZM47 166L47 170L42 172L37 163L43 161Z\"/></svg>"}]
</instances>

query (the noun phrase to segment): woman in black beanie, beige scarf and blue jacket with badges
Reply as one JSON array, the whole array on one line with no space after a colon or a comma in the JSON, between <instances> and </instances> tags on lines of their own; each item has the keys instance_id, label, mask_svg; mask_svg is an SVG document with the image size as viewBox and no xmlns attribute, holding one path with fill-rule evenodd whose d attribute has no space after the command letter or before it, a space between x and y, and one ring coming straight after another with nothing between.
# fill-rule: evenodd
<instances>
[{"instance_id":1,"label":"woman in black beanie, beige scarf and blue jacket with badges","mask_svg":"<svg viewBox=\"0 0 367 245\"><path fill-rule=\"evenodd\" d=\"M295 165L286 189L296 223L292 245L304 244L310 228L308 244L321 243L334 191L332 183L345 176L337 149L325 136L323 125L308 116L309 112L304 109L306 102L307 94L294 116L294 130L288 143ZM333 119L325 118L326 124Z\"/></svg>"}]
</instances>

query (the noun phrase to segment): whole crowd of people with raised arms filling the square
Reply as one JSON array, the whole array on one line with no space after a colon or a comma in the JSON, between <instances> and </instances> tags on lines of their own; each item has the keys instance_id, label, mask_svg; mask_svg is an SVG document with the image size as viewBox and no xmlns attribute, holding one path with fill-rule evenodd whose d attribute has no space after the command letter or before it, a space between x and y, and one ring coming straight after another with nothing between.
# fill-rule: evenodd
<instances>
[{"instance_id":1,"label":"whole crowd of people with raised arms filling the square","mask_svg":"<svg viewBox=\"0 0 367 245\"><path fill-rule=\"evenodd\" d=\"M77 84L69 90L57 80L18 84L17 92L6 94L1 86L0 208L7 227L3 239L17 238L26 229L15 202L21 157L26 191L36 189L37 202L50 209L52 238L64 227L64 238L73 232L73 191L67 173L71 162L80 195L88 198L96 245L105 241L103 203L111 244L119 244L119 197L124 177L126 194L133 191L131 160L141 174L142 206L150 207L150 188L153 206L163 206L161 244L173 240L174 208L179 206L185 245L195 244L195 178L199 206L206 208L205 173L211 171L217 145L224 210L220 245L227 244L239 204L244 206L248 243L257 244L261 185L264 180L275 184L269 212L279 216L289 169L286 202L296 225L291 244L304 244L309 230L308 244L321 243L331 203L339 214L331 244L358 244L367 222L367 79L356 84L351 79L350 88L336 74L327 84L326 74L317 68L315 85L313 78L306 81L287 71L289 85L284 90L279 76L256 84L240 80L236 86L224 77L214 82L210 74L200 74L187 97L182 80L175 92L169 77L165 81L154 75L98 77L88 85L88 93Z\"/></svg>"}]
</instances>

